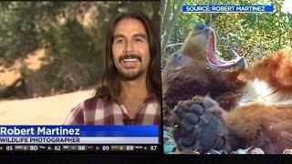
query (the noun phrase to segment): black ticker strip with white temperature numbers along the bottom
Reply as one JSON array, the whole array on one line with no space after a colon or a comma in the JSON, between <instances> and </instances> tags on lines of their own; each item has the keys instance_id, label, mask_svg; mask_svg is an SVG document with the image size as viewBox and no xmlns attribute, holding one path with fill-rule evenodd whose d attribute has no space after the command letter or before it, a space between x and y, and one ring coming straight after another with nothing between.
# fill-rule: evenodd
<instances>
[{"instance_id":1,"label":"black ticker strip with white temperature numbers along the bottom","mask_svg":"<svg viewBox=\"0 0 292 164\"><path fill-rule=\"evenodd\" d=\"M158 145L0 145L3 151L141 151L157 152Z\"/></svg>"}]
</instances>

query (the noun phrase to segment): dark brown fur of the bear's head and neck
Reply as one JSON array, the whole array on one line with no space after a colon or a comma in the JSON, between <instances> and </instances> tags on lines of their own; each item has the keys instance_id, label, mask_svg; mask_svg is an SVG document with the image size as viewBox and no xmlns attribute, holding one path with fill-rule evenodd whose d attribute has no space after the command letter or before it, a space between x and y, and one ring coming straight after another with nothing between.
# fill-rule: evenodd
<instances>
[{"instance_id":1,"label":"dark brown fur of the bear's head and neck","mask_svg":"<svg viewBox=\"0 0 292 164\"><path fill-rule=\"evenodd\" d=\"M211 70L206 65L206 49L212 30L191 32L182 49L167 62L162 73L162 107L164 125L171 126L169 116L181 100L209 94L224 109L234 108L245 81L238 78L243 69L233 72ZM228 101L226 101L228 98Z\"/></svg>"}]
</instances>

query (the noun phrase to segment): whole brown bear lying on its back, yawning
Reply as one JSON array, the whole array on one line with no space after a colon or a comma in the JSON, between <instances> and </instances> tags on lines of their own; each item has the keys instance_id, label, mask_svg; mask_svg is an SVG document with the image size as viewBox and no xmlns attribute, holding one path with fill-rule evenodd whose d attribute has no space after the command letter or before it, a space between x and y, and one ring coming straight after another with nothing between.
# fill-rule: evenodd
<instances>
[{"instance_id":1,"label":"whole brown bear lying on its back, yawning","mask_svg":"<svg viewBox=\"0 0 292 164\"><path fill-rule=\"evenodd\" d=\"M235 52L234 52L235 53ZM292 148L292 51L245 68L215 55L211 27L197 24L162 73L163 125L180 151Z\"/></svg>"}]
</instances>

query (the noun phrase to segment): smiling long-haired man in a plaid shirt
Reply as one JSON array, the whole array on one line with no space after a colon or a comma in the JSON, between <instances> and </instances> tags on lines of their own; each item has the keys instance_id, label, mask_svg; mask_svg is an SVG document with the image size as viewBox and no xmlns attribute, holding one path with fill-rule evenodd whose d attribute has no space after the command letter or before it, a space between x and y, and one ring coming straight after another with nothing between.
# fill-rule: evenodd
<instances>
[{"instance_id":1,"label":"smiling long-haired man in a plaid shirt","mask_svg":"<svg viewBox=\"0 0 292 164\"><path fill-rule=\"evenodd\" d=\"M105 69L94 97L73 108L65 125L159 125L160 35L138 11L115 15L105 44Z\"/></svg>"}]
</instances>

